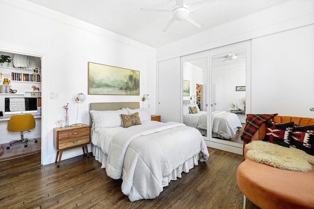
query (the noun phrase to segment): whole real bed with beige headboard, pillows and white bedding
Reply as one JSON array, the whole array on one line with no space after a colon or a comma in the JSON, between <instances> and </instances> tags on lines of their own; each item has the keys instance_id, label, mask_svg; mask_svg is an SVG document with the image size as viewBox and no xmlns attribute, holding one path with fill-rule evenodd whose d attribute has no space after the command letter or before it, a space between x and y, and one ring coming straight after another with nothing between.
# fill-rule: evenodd
<instances>
[{"instance_id":1,"label":"whole real bed with beige headboard, pillows and white bedding","mask_svg":"<svg viewBox=\"0 0 314 209\"><path fill-rule=\"evenodd\" d=\"M118 118L124 126L130 115L141 124L123 128ZM90 123L95 159L109 177L122 179L121 190L130 201L156 198L171 180L209 159L197 129L152 121L139 102L90 103Z\"/></svg>"}]
</instances>

